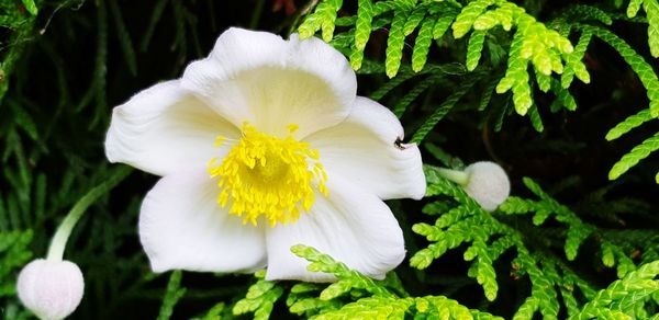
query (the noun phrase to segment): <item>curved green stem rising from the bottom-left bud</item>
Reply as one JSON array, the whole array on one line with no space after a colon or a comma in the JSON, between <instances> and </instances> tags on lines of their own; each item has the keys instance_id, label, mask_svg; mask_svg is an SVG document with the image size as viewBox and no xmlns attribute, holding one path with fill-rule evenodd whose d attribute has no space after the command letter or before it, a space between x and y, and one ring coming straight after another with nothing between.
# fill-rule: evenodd
<instances>
[{"instance_id":1,"label":"curved green stem rising from the bottom-left bud","mask_svg":"<svg viewBox=\"0 0 659 320\"><path fill-rule=\"evenodd\" d=\"M126 178L132 171L133 169L130 167L119 168L108 180L90 190L74 205L62 224L59 224L57 231L55 231L55 236L53 236L51 247L48 248L48 255L46 258L47 260L62 261L66 241L68 240L68 237L71 235L74 227L85 210L87 210L87 208L91 206L100 196L104 195L121 181L123 181L124 178Z\"/></svg>"}]
</instances>

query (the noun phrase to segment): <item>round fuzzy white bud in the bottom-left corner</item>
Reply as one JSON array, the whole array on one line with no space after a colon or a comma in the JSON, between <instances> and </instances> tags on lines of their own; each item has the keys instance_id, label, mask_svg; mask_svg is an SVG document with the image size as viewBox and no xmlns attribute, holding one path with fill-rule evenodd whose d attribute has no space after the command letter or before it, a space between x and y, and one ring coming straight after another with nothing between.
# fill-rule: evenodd
<instances>
[{"instance_id":1,"label":"round fuzzy white bud in the bottom-left corner","mask_svg":"<svg viewBox=\"0 0 659 320\"><path fill-rule=\"evenodd\" d=\"M64 319L80 304L85 281L70 261L37 259L19 275L19 298L40 319Z\"/></svg>"}]
</instances>

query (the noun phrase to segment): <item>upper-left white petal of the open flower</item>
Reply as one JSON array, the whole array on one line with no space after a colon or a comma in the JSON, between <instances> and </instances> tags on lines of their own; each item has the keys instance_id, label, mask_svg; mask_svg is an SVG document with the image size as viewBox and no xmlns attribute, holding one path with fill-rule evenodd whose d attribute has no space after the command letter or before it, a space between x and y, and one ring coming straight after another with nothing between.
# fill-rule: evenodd
<instances>
[{"instance_id":1,"label":"upper-left white petal of the open flower","mask_svg":"<svg viewBox=\"0 0 659 320\"><path fill-rule=\"evenodd\" d=\"M199 99L168 81L135 94L112 112L105 139L110 162L123 162L165 175L222 158L227 147L215 138L239 137L239 130Z\"/></svg>"}]
</instances>

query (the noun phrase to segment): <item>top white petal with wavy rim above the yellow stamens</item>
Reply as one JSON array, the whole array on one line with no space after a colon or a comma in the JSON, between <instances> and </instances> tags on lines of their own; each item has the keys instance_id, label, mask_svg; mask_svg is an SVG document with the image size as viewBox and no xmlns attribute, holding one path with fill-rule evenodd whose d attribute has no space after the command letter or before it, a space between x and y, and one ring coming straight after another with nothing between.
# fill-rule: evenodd
<instances>
[{"instance_id":1,"label":"top white petal with wavy rim above the yellow stamens","mask_svg":"<svg viewBox=\"0 0 659 320\"><path fill-rule=\"evenodd\" d=\"M236 126L283 135L297 124L299 137L342 122L357 92L346 58L321 39L241 28L224 32L181 80Z\"/></svg>"}]
</instances>

